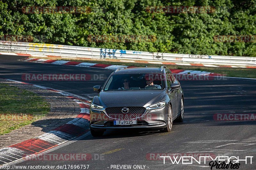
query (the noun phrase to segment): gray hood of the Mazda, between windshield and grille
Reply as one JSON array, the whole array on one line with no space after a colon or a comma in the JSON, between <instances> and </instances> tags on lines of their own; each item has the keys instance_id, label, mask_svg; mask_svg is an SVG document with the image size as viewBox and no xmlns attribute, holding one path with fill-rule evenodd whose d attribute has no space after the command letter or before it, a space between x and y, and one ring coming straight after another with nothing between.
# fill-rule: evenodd
<instances>
[{"instance_id":1,"label":"gray hood of the Mazda, between windshield and grille","mask_svg":"<svg viewBox=\"0 0 256 170\"><path fill-rule=\"evenodd\" d=\"M103 107L144 106L161 101L165 90L100 92L93 102Z\"/></svg>"}]
</instances>

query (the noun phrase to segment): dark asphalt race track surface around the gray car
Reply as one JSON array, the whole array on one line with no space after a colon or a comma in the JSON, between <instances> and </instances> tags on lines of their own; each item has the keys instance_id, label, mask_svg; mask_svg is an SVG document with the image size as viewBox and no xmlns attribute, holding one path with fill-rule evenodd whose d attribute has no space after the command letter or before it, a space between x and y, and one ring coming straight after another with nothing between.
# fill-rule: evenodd
<instances>
[{"instance_id":1,"label":"dark asphalt race track surface around the gray car","mask_svg":"<svg viewBox=\"0 0 256 170\"><path fill-rule=\"evenodd\" d=\"M94 85L103 85L111 70L43 63L21 62L22 56L0 55L0 78L43 85L83 97L95 94ZM25 81L26 73L104 74L95 81ZM214 114L255 114L256 80L180 81L184 90L185 120L174 123L170 133L108 130L102 137L84 137L49 152L89 153L88 161L27 160L16 165L89 165L89 169L111 169L111 165L145 165L145 169L210 169L208 163L182 165L150 160L150 153L204 153L215 156L253 156L252 164L240 169L256 169L256 121L216 121ZM105 153L105 154L103 154ZM101 156L101 158L99 158ZM153 159L153 158L152 158ZM142 166L143 167L143 166ZM57 168L55 168L57 169ZM112 168L113 169L113 168ZM214 168L216 169L216 168Z\"/></svg>"}]
</instances>

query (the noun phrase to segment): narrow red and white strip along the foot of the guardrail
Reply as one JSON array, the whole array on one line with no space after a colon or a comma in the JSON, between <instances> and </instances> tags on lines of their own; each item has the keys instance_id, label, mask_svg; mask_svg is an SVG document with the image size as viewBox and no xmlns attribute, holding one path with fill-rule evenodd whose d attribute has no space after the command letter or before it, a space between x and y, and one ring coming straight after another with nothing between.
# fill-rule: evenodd
<instances>
[{"instance_id":1,"label":"narrow red and white strip along the foot of the guardrail","mask_svg":"<svg viewBox=\"0 0 256 170\"><path fill-rule=\"evenodd\" d=\"M51 55L4 53L4 52L0 52L0 55L19 55L19 56L27 56L27 57L52 57ZM55 56L55 57L57 57L57 56ZM65 57L63 57L63 58L65 58ZM134 61L134 60L118 60L118 59L115 59L115 61L116 62L123 62L123 63L141 63L140 61ZM214 65L214 64L193 64L193 63L172 63L172 62L160 62L160 61L143 61L143 63L163 64L163 65L185 65L185 66L203 66L203 67L232 67L232 68L256 69L256 67L253 67L253 66L233 66L233 65ZM103 66L104 65L108 65L108 64L103 64ZM95 67L98 67L98 66L99 66L99 68L101 68L100 65L96 65ZM115 67L116 65L112 65L112 66Z\"/></svg>"}]
</instances>

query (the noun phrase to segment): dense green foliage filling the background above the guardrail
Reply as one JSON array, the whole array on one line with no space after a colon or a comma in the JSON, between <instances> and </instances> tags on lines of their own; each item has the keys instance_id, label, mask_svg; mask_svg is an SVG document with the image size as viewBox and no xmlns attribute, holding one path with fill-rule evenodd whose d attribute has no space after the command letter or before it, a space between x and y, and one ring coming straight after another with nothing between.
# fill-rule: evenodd
<instances>
[{"instance_id":1,"label":"dense green foliage filling the background above the guardrail","mask_svg":"<svg viewBox=\"0 0 256 170\"><path fill-rule=\"evenodd\" d=\"M31 6L83 6L86 10L26 12ZM212 6L214 10L168 13L161 6ZM256 56L253 37L250 42L214 40L216 35L256 35L255 0L3 0L0 11L1 37L31 35L36 37L34 42L84 47ZM95 42L93 36L99 35L110 38ZM124 35L139 38L118 39ZM150 38L145 42L141 35ZM113 41L113 36L119 37Z\"/></svg>"}]
</instances>

